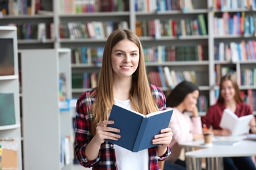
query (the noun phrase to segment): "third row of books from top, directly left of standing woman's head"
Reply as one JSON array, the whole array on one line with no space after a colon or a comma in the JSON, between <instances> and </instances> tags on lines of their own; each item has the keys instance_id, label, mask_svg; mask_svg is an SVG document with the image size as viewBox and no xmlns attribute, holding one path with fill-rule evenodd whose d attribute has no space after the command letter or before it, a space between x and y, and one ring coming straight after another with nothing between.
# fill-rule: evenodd
<instances>
[{"instance_id":1,"label":"third row of books from top, directly left of standing woman's head","mask_svg":"<svg viewBox=\"0 0 256 170\"><path fill-rule=\"evenodd\" d=\"M71 62L75 64L95 64L102 63L104 47L90 48L86 46L79 46L72 48Z\"/></svg>"}]
</instances>

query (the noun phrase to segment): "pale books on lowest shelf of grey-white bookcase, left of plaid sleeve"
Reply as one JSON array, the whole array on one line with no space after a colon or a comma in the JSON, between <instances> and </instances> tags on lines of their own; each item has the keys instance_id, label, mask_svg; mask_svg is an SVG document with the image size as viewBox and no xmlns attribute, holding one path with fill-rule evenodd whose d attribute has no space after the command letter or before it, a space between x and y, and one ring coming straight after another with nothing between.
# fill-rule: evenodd
<instances>
[{"instance_id":1,"label":"pale books on lowest shelf of grey-white bookcase, left of plaid sleeve","mask_svg":"<svg viewBox=\"0 0 256 170\"><path fill-rule=\"evenodd\" d=\"M60 137L60 167L69 165L74 160L74 139L70 136Z\"/></svg>"}]
</instances>

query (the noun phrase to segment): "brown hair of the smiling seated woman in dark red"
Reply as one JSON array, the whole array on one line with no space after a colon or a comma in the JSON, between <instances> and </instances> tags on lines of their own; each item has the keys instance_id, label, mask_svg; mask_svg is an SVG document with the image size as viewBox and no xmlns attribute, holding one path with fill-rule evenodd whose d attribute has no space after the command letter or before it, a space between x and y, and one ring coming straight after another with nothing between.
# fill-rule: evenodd
<instances>
[{"instance_id":1,"label":"brown hair of the smiling seated woman in dark red","mask_svg":"<svg viewBox=\"0 0 256 170\"><path fill-rule=\"evenodd\" d=\"M237 83L237 81L236 81L236 77L235 77L234 75L232 75L231 73L228 73L228 74L224 75L224 76L221 78L221 82L220 82L220 85L219 85L219 88L220 88L220 90L219 90L219 98L218 98L217 102L218 102L218 103L223 103L223 102L224 102L224 98L223 98L223 96L221 95L221 86L223 86L223 82L224 82L224 81L227 81L227 80L229 80L230 82L232 82L232 86L233 86L233 88L234 88L234 90L235 90L235 96L234 96L234 98L235 98L235 100L236 100L236 103L241 103L241 102L243 102L243 99L242 99L242 97L241 97L241 95L240 95L240 89L239 89L238 83Z\"/></svg>"}]
</instances>

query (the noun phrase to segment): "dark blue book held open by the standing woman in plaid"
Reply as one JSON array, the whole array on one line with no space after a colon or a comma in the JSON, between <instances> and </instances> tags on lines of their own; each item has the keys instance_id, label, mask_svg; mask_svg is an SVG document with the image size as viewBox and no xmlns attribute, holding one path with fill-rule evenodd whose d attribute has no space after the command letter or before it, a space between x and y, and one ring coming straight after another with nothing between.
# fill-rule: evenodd
<instances>
[{"instance_id":1,"label":"dark blue book held open by the standing woman in plaid","mask_svg":"<svg viewBox=\"0 0 256 170\"><path fill-rule=\"evenodd\" d=\"M173 110L169 109L145 116L139 112L113 105L108 120L114 120L115 123L108 126L120 129L120 133L117 134L121 135L121 138L117 141L110 139L106 139L106 141L132 152L158 146L152 144L152 139L154 139L154 135L160 133L161 129L168 127L172 114Z\"/></svg>"}]
</instances>

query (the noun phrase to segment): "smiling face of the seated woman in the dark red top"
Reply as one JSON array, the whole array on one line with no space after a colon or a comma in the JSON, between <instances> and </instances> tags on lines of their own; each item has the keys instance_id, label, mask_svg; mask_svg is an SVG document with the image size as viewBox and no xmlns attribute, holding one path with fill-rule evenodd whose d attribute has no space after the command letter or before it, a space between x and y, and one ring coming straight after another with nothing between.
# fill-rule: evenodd
<instances>
[{"instance_id":1,"label":"smiling face of the seated woman in the dark red top","mask_svg":"<svg viewBox=\"0 0 256 170\"><path fill-rule=\"evenodd\" d=\"M233 84L230 80L224 80L221 85L221 96L223 97L224 101L230 101L234 99L235 90Z\"/></svg>"}]
</instances>

